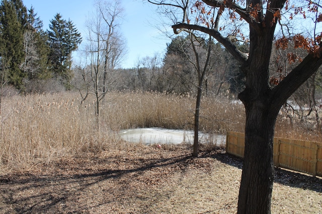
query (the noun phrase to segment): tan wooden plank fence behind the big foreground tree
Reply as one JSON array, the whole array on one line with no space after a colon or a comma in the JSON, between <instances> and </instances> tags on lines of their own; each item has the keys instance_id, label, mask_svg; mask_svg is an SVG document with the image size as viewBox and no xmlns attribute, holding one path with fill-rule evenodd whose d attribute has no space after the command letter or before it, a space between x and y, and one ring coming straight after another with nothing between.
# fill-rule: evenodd
<instances>
[{"instance_id":1,"label":"tan wooden plank fence behind the big foreground tree","mask_svg":"<svg viewBox=\"0 0 322 214\"><path fill-rule=\"evenodd\" d=\"M227 132L227 153L243 158L244 147L244 133ZM322 176L322 144L318 142L274 138L273 160L277 167Z\"/></svg>"}]
</instances>

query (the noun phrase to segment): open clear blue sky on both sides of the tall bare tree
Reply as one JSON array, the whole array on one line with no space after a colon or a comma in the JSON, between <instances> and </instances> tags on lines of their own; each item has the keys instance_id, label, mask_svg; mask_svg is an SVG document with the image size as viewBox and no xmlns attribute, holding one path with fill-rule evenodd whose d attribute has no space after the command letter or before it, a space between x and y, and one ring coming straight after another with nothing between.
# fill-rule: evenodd
<instances>
[{"instance_id":1,"label":"open clear blue sky on both sides of the tall bare tree","mask_svg":"<svg viewBox=\"0 0 322 214\"><path fill-rule=\"evenodd\" d=\"M137 64L138 59L154 54L164 55L167 43L171 40L157 30L158 15L155 13L155 6L143 3L142 0L121 0L124 8L124 21L121 32L127 42L127 55L121 67L132 68ZM86 38L85 23L89 14L94 9L94 0L23 0L27 9L33 6L37 17L43 21L43 29L49 29L49 24L54 16L59 13L64 20L70 19L83 40ZM170 23L169 23L170 28ZM82 46L79 48L81 49ZM74 58L77 58L74 56ZM74 59L76 61L77 59Z\"/></svg>"}]
</instances>

